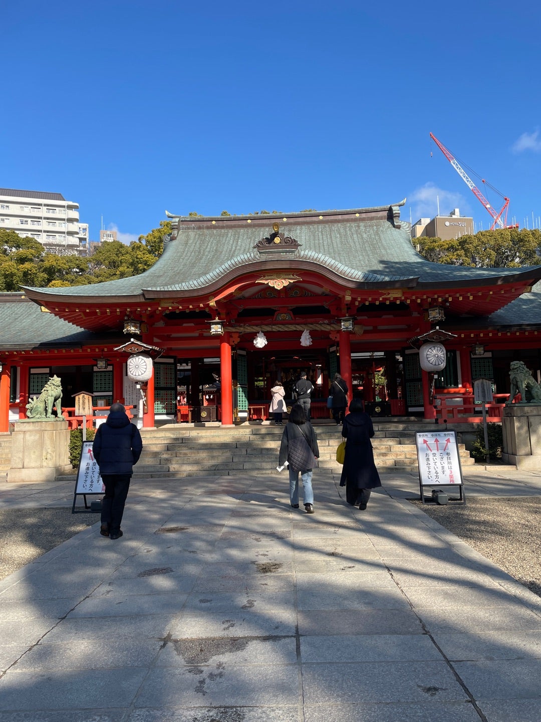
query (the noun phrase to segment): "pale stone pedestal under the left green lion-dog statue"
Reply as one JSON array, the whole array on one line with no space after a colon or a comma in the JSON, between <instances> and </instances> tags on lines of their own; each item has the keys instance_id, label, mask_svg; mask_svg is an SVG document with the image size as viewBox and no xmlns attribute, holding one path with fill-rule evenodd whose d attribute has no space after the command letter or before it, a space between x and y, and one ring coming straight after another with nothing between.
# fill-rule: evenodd
<instances>
[{"instance_id":1,"label":"pale stone pedestal under the left green lion-dog statue","mask_svg":"<svg viewBox=\"0 0 541 722\"><path fill-rule=\"evenodd\" d=\"M66 419L15 422L8 482L52 482L72 471Z\"/></svg>"}]
</instances>

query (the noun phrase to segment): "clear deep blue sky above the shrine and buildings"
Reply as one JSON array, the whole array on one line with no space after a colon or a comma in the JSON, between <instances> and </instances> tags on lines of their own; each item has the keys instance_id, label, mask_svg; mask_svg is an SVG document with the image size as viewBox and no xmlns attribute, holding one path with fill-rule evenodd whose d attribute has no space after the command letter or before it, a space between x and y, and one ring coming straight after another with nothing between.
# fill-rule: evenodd
<instances>
[{"instance_id":1,"label":"clear deep blue sky above the shrine and buildings","mask_svg":"<svg viewBox=\"0 0 541 722\"><path fill-rule=\"evenodd\" d=\"M126 242L165 209L404 197L406 220L438 196L490 227L432 132L538 227L540 20L501 0L5 3L0 186L62 193Z\"/></svg>"}]
</instances>

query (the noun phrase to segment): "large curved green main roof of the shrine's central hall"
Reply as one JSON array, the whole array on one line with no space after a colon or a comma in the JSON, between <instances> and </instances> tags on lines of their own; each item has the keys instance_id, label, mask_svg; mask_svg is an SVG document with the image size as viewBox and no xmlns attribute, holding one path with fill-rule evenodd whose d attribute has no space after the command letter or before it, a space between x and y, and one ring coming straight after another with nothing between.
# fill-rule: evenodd
<instances>
[{"instance_id":1,"label":"large curved green main roof of the shrine's central hall","mask_svg":"<svg viewBox=\"0 0 541 722\"><path fill-rule=\"evenodd\" d=\"M374 209L370 209L374 210ZM376 209L377 210L377 209ZM384 210L384 209L380 209ZM359 215L366 212L360 209ZM255 244L272 230L279 217L258 217L257 224L248 225L247 217L217 219L182 218L177 221L177 238L166 243L164 253L156 264L143 274L92 286L40 289L58 297L141 297L144 291L180 292L187 294L219 283L225 274L237 269L250 270L251 264L273 261L294 268L299 261L313 261L326 266L348 284L400 284L418 279L418 284L457 284L466 286L485 279L512 277L517 273L541 268L475 269L467 266L448 266L426 261L413 248L409 224L395 227L392 217L354 219L354 211L336 212L346 219L323 219L317 214L296 214L290 222L280 223L280 234L299 242L294 256L272 253L260 255ZM263 223L262 223L263 221ZM397 224L400 225L400 224ZM413 283L415 284L415 282ZM29 289L30 290L30 289ZM149 294L150 295L150 294Z\"/></svg>"}]
</instances>

